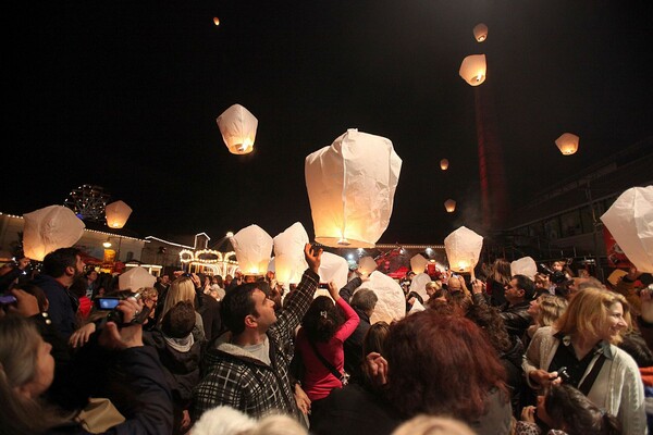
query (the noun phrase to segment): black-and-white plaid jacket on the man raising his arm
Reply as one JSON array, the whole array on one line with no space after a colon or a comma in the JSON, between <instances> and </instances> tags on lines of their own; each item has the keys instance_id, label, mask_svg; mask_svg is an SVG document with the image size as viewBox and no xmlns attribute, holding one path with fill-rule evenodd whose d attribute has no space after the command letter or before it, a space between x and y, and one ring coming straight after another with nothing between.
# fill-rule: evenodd
<instances>
[{"instance_id":1,"label":"black-and-white plaid jacket on the man raising his arm","mask_svg":"<svg viewBox=\"0 0 653 435\"><path fill-rule=\"evenodd\" d=\"M295 330L312 302L319 281L319 275L309 269L296 290L287 295L276 323L267 333L270 365L230 344L231 333L223 334L207 350L206 375L195 388L195 420L209 409L227 405L256 418L281 411L304 422L288 380L288 365Z\"/></svg>"}]
</instances>

